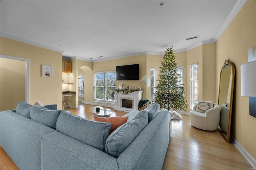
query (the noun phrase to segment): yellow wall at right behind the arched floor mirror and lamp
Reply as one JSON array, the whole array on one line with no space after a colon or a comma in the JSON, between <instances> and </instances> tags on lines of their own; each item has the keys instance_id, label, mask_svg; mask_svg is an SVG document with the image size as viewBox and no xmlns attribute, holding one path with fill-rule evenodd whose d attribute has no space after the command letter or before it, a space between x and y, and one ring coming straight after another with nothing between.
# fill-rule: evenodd
<instances>
[{"instance_id":1,"label":"yellow wall at right behind the arched floor mirror and lamp","mask_svg":"<svg viewBox=\"0 0 256 170\"><path fill-rule=\"evenodd\" d=\"M249 115L248 97L241 96L240 66L256 45L256 0L247 1L216 43L217 79L225 59L236 68L231 135L256 159L256 118ZM216 83L218 86L218 83Z\"/></svg>"}]
</instances>

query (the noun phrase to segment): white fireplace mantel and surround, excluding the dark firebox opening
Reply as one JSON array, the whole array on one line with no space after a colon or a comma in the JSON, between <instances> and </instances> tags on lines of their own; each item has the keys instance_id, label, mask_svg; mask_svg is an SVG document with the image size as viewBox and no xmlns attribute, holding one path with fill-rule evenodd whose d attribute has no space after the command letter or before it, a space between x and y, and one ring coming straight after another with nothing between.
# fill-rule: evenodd
<instances>
[{"instance_id":1,"label":"white fireplace mantel and surround, excluding the dark firebox opening","mask_svg":"<svg viewBox=\"0 0 256 170\"><path fill-rule=\"evenodd\" d=\"M116 93L116 107L114 107L114 110L123 111L123 112L137 111L138 103L141 97L142 97L142 91L134 91L127 95ZM132 100L132 108L122 107L122 99Z\"/></svg>"}]
</instances>

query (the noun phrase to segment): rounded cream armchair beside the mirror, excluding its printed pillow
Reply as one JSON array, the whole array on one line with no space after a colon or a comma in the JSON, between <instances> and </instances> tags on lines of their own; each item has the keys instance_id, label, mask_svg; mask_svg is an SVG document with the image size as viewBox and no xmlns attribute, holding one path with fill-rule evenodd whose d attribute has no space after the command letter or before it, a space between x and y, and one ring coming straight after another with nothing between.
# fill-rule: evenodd
<instances>
[{"instance_id":1,"label":"rounded cream armchair beside the mirror, excluding its printed pillow","mask_svg":"<svg viewBox=\"0 0 256 170\"><path fill-rule=\"evenodd\" d=\"M214 103L213 108L205 113L197 112L196 105L190 111L190 124L202 130L217 130L220 123L220 107Z\"/></svg>"}]
</instances>

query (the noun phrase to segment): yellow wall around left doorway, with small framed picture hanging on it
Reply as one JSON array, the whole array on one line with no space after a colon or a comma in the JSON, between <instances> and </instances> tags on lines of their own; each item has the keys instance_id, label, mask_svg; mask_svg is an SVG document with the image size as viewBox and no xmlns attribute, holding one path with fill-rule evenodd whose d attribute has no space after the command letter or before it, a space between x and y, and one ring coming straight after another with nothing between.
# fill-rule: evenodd
<instances>
[{"instance_id":1,"label":"yellow wall around left doorway, with small framed picture hanging on it","mask_svg":"<svg viewBox=\"0 0 256 170\"><path fill-rule=\"evenodd\" d=\"M7 38L0 38L0 54L30 60L29 103L62 107L62 53ZM53 67L53 77L42 77L42 65ZM17 103L16 103L17 104Z\"/></svg>"}]
</instances>

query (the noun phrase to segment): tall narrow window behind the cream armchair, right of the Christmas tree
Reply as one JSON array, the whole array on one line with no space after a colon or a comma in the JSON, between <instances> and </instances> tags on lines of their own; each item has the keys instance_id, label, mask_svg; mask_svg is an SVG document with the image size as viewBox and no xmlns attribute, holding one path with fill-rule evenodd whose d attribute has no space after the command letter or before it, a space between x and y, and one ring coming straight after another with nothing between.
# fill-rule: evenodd
<instances>
[{"instance_id":1,"label":"tall narrow window behind the cream armchair, right of the Christmas tree","mask_svg":"<svg viewBox=\"0 0 256 170\"><path fill-rule=\"evenodd\" d=\"M197 104L197 64L190 65L190 110Z\"/></svg>"}]
</instances>

